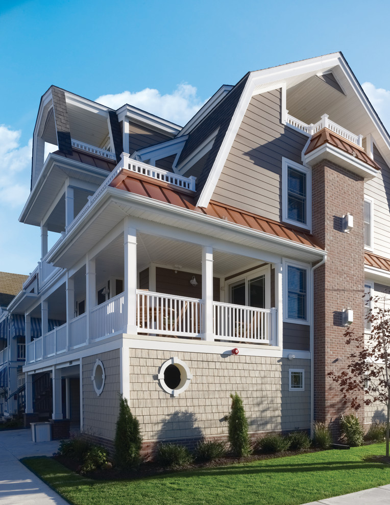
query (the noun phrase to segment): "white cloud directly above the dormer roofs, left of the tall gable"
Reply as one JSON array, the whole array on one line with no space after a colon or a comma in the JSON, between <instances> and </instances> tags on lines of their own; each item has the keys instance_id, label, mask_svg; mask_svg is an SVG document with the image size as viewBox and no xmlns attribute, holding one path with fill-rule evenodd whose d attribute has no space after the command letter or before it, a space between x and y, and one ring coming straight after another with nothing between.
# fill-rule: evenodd
<instances>
[{"instance_id":1,"label":"white cloud directly above the dormer roofs, left of the tall gable","mask_svg":"<svg viewBox=\"0 0 390 505\"><path fill-rule=\"evenodd\" d=\"M124 91L115 95L102 95L96 102L111 109L129 104L163 117L176 124L184 125L205 103L197 95L197 88L190 84L179 84L172 94L162 95L157 89L145 88L142 91Z\"/></svg>"}]
</instances>

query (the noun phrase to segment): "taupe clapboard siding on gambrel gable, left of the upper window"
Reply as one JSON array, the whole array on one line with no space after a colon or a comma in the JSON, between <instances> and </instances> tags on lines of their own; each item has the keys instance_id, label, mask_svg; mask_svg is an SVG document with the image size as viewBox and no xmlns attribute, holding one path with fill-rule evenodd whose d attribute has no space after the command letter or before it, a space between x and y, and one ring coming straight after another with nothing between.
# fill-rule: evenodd
<instances>
[{"instance_id":1,"label":"taupe clapboard siding on gambrel gable, left of the upper window","mask_svg":"<svg viewBox=\"0 0 390 505\"><path fill-rule=\"evenodd\" d=\"M281 220L282 157L301 163L307 136L281 124L281 90L252 97L212 199Z\"/></svg>"}]
</instances>

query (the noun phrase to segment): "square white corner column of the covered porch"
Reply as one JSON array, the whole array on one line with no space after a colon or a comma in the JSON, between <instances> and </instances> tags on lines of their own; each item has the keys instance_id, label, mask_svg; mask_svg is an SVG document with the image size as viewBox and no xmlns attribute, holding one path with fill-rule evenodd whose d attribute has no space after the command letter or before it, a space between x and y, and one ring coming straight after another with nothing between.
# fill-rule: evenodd
<instances>
[{"instance_id":1,"label":"square white corner column of the covered porch","mask_svg":"<svg viewBox=\"0 0 390 505\"><path fill-rule=\"evenodd\" d=\"M125 246L125 306L124 333L136 335L136 304L137 304L137 230L132 228L131 220L124 220L124 246Z\"/></svg>"}]
</instances>

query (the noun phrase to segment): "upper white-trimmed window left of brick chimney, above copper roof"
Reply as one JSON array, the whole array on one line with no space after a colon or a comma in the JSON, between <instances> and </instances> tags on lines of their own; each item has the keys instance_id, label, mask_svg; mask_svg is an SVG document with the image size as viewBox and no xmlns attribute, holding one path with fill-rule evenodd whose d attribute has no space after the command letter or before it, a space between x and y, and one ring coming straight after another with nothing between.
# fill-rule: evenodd
<instances>
[{"instance_id":1,"label":"upper white-trimmed window left of brick chimney, above copper roof","mask_svg":"<svg viewBox=\"0 0 390 505\"><path fill-rule=\"evenodd\" d=\"M311 169L282 158L282 219L311 228Z\"/></svg>"}]
</instances>

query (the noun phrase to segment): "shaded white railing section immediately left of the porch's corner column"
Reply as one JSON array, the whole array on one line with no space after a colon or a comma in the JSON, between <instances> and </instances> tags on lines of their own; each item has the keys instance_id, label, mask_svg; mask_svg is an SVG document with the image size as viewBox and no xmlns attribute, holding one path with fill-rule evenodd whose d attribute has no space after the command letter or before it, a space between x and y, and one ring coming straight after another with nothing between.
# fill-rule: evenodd
<instances>
[{"instance_id":1,"label":"shaded white railing section immediately left of the porch's corner column","mask_svg":"<svg viewBox=\"0 0 390 505\"><path fill-rule=\"evenodd\" d=\"M125 325L124 299L122 293L91 310L92 340L123 329Z\"/></svg>"}]
</instances>

